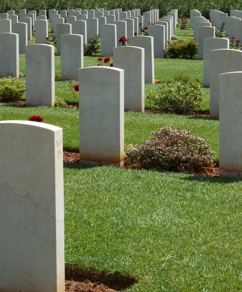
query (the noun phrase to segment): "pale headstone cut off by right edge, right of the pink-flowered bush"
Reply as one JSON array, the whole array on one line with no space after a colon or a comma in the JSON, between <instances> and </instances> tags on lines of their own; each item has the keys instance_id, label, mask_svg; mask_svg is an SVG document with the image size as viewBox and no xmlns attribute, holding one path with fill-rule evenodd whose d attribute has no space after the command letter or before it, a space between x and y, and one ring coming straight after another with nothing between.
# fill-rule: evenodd
<instances>
[{"instance_id":1,"label":"pale headstone cut off by right edge, right of the pink-flowered bush","mask_svg":"<svg viewBox=\"0 0 242 292\"><path fill-rule=\"evenodd\" d=\"M242 72L220 75L220 176L242 178Z\"/></svg>"}]
</instances>

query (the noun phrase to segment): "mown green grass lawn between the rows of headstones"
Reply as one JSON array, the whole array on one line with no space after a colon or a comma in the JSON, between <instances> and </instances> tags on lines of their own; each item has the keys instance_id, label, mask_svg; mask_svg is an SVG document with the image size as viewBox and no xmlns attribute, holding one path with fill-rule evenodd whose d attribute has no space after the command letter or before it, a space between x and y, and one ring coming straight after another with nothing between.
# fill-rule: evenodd
<instances>
[{"instance_id":1,"label":"mown green grass lawn between the rows of headstones","mask_svg":"<svg viewBox=\"0 0 242 292\"><path fill-rule=\"evenodd\" d=\"M96 60L84 57L84 66ZM20 55L22 75L24 62ZM156 79L172 80L179 72L202 82L202 61L155 59ZM60 56L55 74L60 77ZM66 81L55 86L56 96L72 101ZM145 91L155 86L145 85ZM209 89L203 91L203 108L209 109ZM64 148L79 148L77 109L0 104L1 121L34 114L63 128ZM164 126L185 128L205 139L219 159L216 119L135 112L124 117L125 144L139 144ZM241 193L236 179L64 163L65 262L94 274L134 275L139 282L129 292L242 291Z\"/></svg>"}]
</instances>

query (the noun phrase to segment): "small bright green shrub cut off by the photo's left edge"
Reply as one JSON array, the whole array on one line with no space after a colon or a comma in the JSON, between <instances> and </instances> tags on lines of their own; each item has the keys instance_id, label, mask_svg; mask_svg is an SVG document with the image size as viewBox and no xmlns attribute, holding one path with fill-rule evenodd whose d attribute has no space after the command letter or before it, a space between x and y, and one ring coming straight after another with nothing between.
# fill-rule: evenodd
<instances>
[{"instance_id":1,"label":"small bright green shrub cut off by the photo's left edge","mask_svg":"<svg viewBox=\"0 0 242 292\"><path fill-rule=\"evenodd\" d=\"M20 82L17 78L0 79L0 101L20 100L25 92L25 83Z\"/></svg>"}]
</instances>

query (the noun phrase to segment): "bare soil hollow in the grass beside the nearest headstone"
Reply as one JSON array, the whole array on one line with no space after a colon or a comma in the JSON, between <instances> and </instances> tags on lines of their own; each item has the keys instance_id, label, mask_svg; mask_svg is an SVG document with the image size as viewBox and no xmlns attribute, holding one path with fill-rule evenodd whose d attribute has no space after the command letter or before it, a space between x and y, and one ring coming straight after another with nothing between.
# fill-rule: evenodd
<instances>
[{"instance_id":1,"label":"bare soil hollow in the grass beside the nearest headstone","mask_svg":"<svg viewBox=\"0 0 242 292\"><path fill-rule=\"evenodd\" d=\"M68 292L117 292L138 283L136 277L118 271L88 270L73 264L65 265L65 279Z\"/></svg>"}]
</instances>

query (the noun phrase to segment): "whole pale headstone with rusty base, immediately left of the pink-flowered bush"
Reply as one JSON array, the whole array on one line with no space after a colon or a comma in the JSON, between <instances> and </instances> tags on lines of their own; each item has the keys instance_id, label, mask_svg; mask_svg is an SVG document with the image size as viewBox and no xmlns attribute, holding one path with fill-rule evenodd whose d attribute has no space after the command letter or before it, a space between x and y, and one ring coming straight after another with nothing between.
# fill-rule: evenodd
<instances>
[{"instance_id":1,"label":"whole pale headstone with rusty base, immediately left of the pink-flowered bush","mask_svg":"<svg viewBox=\"0 0 242 292\"><path fill-rule=\"evenodd\" d=\"M124 72L105 66L83 68L79 72L80 162L121 167Z\"/></svg>"}]
</instances>

